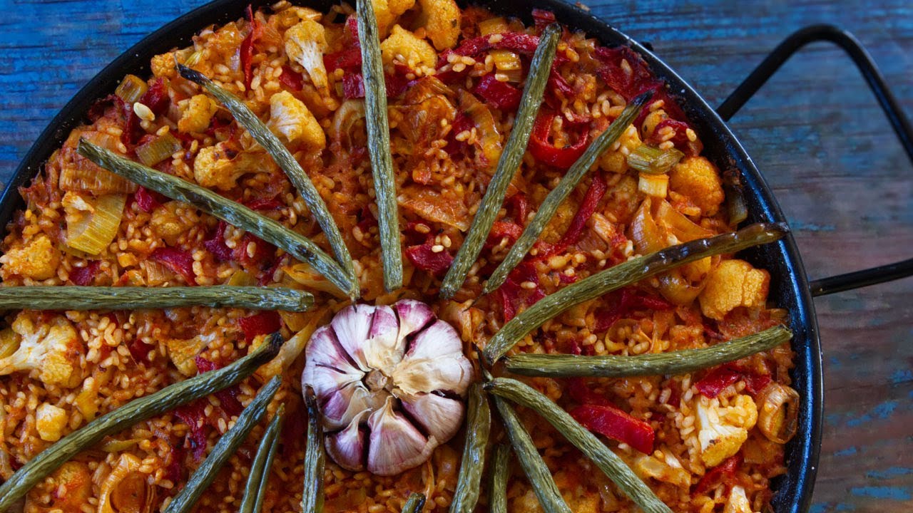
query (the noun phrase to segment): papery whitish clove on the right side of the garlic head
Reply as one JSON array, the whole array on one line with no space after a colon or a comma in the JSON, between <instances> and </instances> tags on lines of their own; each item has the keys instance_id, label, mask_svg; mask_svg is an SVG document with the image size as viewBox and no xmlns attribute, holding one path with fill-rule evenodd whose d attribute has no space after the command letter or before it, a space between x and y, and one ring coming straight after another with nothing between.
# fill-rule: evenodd
<instances>
[{"instance_id":1,"label":"papery whitish clove on the right side of the garlic head","mask_svg":"<svg viewBox=\"0 0 913 513\"><path fill-rule=\"evenodd\" d=\"M460 396L466 394L472 376L472 363L462 354L404 360L391 375L396 389L402 393L440 391Z\"/></svg>"}]
</instances>

